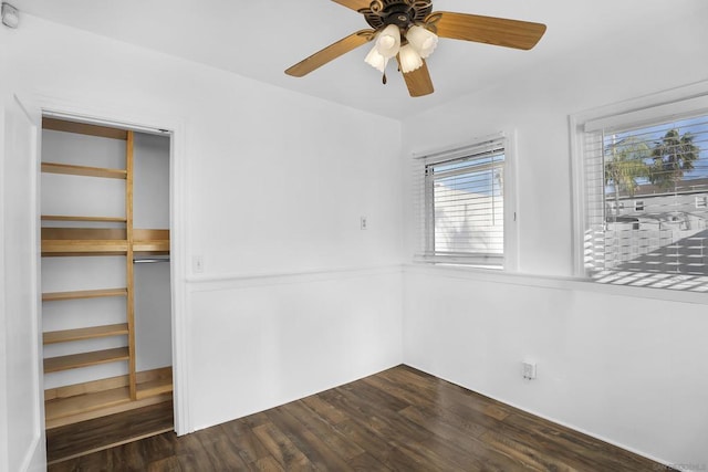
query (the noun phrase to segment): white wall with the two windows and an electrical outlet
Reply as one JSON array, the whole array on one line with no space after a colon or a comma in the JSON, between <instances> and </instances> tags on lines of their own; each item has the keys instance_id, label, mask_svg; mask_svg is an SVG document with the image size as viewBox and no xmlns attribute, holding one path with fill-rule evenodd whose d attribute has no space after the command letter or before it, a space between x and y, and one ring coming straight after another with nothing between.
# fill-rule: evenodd
<instances>
[{"instance_id":1,"label":"white wall with the two windows and an electrical outlet","mask_svg":"<svg viewBox=\"0 0 708 472\"><path fill-rule=\"evenodd\" d=\"M677 18L680 28L657 33ZM409 268L407 364L666 462L708 464L706 296L671 302L552 279L573 271L569 115L708 77L704 20L667 6L657 24L628 24L404 123L404 176L412 151L517 130L519 266L535 275L520 284ZM410 260L414 241L406 247ZM527 356L538 361L532 382L520 374Z\"/></svg>"}]
</instances>

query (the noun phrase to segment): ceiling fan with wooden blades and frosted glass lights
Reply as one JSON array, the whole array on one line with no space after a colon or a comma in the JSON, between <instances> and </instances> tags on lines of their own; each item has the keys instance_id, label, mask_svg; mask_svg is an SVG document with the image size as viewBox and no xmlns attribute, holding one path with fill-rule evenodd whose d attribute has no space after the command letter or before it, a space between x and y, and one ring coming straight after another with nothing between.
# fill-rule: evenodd
<instances>
[{"instance_id":1,"label":"ceiling fan with wooden blades and frosted glass lights","mask_svg":"<svg viewBox=\"0 0 708 472\"><path fill-rule=\"evenodd\" d=\"M384 74L396 57L410 96L434 92L425 59L439 38L530 50L545 24L477 14L433 11L431 0L332 0L364 15L371 29L361 30L296 63L285 74L302 77L336 57L375 40L365 61Z\"/></svg>"}]
</instances>

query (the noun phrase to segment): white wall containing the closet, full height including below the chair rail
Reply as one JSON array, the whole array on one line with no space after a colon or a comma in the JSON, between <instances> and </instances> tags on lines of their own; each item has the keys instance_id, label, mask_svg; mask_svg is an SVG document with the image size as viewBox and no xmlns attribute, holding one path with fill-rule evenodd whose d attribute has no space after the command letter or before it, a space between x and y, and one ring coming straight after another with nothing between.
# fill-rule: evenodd
<instances>
[{"instance_id":1,"label":"white wall containing the closet, full height including below the chair rail","mask_svg":"<svg viewBox=\"0 0 708 472\"><path fill-rule=\"evenodd\" d=\"M40 102L180 124L186 430L402 361L398 123L31 15L0 42Z\"/></svg>"}]
</instances>

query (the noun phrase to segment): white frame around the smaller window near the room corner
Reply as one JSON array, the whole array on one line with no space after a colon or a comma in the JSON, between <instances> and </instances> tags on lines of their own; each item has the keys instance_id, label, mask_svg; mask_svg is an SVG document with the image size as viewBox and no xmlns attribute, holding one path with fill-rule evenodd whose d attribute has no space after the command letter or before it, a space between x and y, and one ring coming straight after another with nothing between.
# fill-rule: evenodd
<instances>
[{"instance_id":1,"label":"white frame around the smaller window near the room corner","mask_svg":"<svg viewBox=\"0 0 708 472\"><path fill-rule=\"evenodd\" d=\"M466 157L473 157L473 150L479 149L485 143L501 140L503 147L503 253L500 266L485 264L483 255L480 258L461 256L446 258L436 256L434 251L435 241L433 212L429 211L433 201L433 186L426 178L426 169L430 165L449 162ZM471 153L471 155L470 155ZM494 271L494 272L517 272L518 271L518 202L517 202L517 145L516 130L499 132L490 135L477 137L461 144L435 148L426 151L413 154L414 172L414 203L416 208L417 227L417 250L414 254L414 262L440 265L460 265L469 270ZM499 259L492 256L491 259Z\"/></svg>"}]
</instances>

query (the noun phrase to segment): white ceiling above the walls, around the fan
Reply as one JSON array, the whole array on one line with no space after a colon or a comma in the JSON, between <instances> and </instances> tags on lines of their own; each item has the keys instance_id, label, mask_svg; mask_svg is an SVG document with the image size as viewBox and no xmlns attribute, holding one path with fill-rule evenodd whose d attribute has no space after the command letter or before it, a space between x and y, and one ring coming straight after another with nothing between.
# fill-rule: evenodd
<instances>
[{"instance_id":1,"label":"white ceiling above the walls, around the fan","mask_svg":"<svg viewBox=\"0 0 708 472\"><path fill-rule=\"evenodd\" d=\"M364 18L331 0L10 0L22 13L67 24L277 86L400 119L483 90L563 54L607 45L673 17L706 14L705 0L435 0L458 11L545 23L531 51L440 40L428 60L436 92L412 98L389 65L388 84L364 45L302 78L290 65L350 33ZM21 28L21 24L20 24Z\"/></svg>"}]
</instances>

